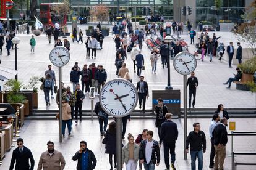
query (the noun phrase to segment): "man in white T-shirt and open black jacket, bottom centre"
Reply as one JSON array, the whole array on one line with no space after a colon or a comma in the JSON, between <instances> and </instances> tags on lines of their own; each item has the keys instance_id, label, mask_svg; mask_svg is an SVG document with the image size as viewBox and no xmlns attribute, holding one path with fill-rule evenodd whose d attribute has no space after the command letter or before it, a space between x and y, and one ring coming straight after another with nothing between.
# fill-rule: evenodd
<instances>
[{"instance_id":1,"label":"man in white T-shirt and open black jacket, bottom centre","mask_svg":"<svg viewBox=\"0 0 256 170\"><path fill-rule=\"evenodd\" d=\"M147 131L147 140L140 143L139 159L144 163L145 170L153 170L160 163L160 148L158 142L153 140L153 131Z\"/></svg>"}]
</instances>

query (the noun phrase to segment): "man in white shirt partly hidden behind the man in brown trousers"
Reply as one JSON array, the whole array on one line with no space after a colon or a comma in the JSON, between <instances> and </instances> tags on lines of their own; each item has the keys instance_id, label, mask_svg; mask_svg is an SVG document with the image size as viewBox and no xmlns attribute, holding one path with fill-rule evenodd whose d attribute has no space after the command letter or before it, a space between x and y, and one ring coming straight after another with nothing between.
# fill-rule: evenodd
<instances>
[{"instance_id":1,"label":"man in white shirt partly hidden behind the man in brown trousers","mask_svg":"<svg viewBox=\"0 0 256 170\"><path fill-rule=\"evenodd\" d=\"M209 168L213 168L214 166L214 156L215 156L215 148L214 148L214 143L213 143L213 129L215 126L217 126L220 121L220 116L218 113L215 113L213 115L213 121L211 121L210 127L209 127L209 134L211 137L211 155L210 155L210 165Z\"/></svg>"}]
</instances>

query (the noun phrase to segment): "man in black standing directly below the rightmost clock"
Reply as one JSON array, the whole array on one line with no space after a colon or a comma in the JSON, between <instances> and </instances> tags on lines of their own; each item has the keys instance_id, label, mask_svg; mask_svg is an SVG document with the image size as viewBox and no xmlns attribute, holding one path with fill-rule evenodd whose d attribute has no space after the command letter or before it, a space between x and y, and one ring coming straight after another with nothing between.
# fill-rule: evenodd
<instances>
[{"instance_id":1,"label":"man in black standing directly below the rightmost clock","mask_svg":"<svg viewBox=\"0 0 256 170\"><path fill-rule=\"evenodd\" d=\"M198 80L195 77L195 73L191 73L191 77L187 79L187 86L189 86L189 109L191 108L191 97L193 94L192 106L195 108L195 95L197 92Z\"/></svg>"}]
</instances>

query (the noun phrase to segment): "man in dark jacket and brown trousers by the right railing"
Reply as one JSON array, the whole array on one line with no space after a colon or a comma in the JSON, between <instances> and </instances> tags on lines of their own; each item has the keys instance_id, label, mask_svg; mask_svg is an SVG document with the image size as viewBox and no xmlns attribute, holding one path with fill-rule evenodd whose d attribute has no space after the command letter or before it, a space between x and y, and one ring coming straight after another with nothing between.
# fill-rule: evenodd
<instances>
[{"instance_id":1,"label":"man in dark jacket and brown trousers by the right railing","mask_svg":"<svg viewBox=\"0 0 256 170\"><path fill-rule=\"evenodd\" d=\"M220 119L220 124L213 130L213 142L215 148L214 169L223 170L224 160L226 158L226 144L228 143L228 132L226 129L228 121L226 118Z\"/></svg>"}]
</instances>

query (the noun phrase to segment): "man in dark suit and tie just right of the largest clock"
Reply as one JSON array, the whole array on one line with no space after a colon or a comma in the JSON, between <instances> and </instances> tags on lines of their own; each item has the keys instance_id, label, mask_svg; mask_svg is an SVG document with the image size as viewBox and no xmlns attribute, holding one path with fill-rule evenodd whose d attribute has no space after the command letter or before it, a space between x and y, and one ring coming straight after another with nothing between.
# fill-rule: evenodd
<instances>
[{"instance_id":1,"label":"man in dark suit and tie just right of the largest clock","mask_svg":"<svg viewBox=\"0 0 256 170\"><path fill-rule=\"evenodd\" d=\"M145 113L146 97L148 98L148 83L144 81L144 76L140 76L140 81L137 82L136 86L138 96L139 96L139 105L140 109L142 108L142 113ZM142 107L143 100L143 107Z\"/></svg>"}]
</instances>

